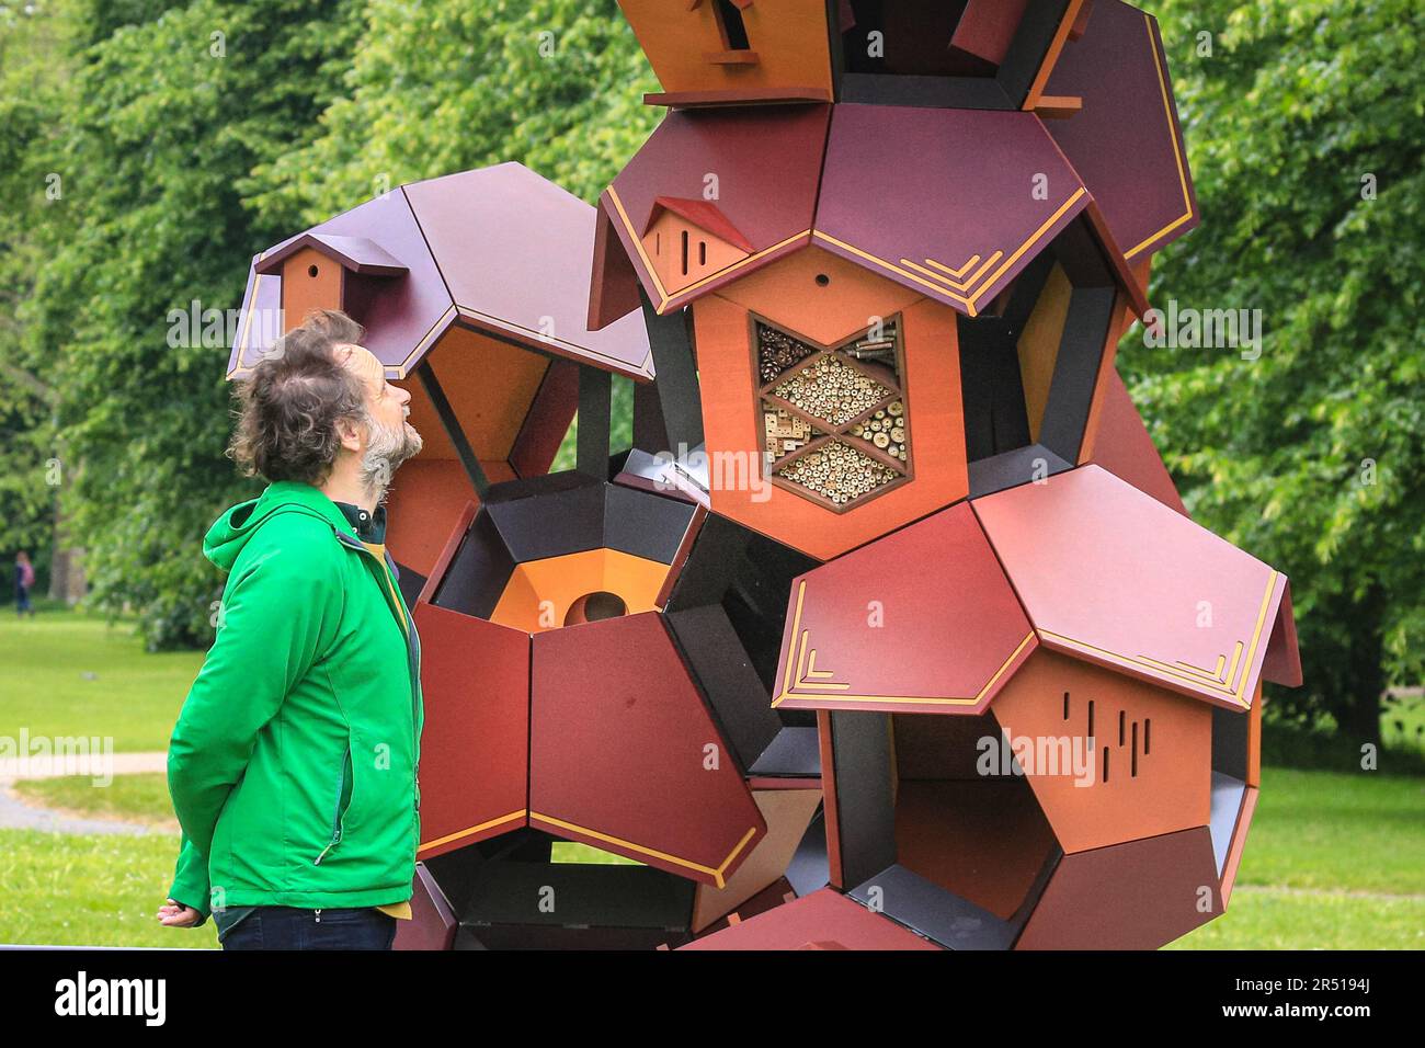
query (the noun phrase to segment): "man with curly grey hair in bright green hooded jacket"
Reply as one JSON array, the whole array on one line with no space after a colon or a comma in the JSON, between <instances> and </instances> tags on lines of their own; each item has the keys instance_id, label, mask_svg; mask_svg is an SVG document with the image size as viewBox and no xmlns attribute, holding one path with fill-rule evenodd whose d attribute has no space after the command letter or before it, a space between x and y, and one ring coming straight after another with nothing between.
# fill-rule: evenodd
<instances>
[{"instance_id":1,"label":"man with curly grey hair in bright green hooded jacket","mask_svg":"<svg viewBox=\"0 0 1425 1048\"><path fill-rule=\"evenodd\" d=\"M218 633L168 747L182 827L158 921L227 950L389 950L420 840L420 640L383 499L420 452L410 394L315 311L238 389L229 455L268 481L219 516Z\"/></svg>"}]
</instances>

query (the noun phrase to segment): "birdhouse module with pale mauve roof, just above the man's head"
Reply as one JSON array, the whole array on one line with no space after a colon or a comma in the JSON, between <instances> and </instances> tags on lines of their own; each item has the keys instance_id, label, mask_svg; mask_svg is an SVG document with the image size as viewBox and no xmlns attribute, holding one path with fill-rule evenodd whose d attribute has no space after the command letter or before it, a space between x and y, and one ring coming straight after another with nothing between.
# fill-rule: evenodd
<instances>
[{"instance_id":1,"label":"birdhouse module with pale mauve roof, just above the man's head","mask_svg":"<svg viewBox=\"0 0 1425 1048\"><path fill-rule=\"evenodd\" d=\"M388 546L420 590L466 503L549 471L579 406L580 368L648 382L641 318L587 328L594 210L519 164L402 185L254 261L229 378L312 307L365 325L410 389L425 448L400 468ZM419 510L399 512L405 505Z\"/></svg>"}]
</instances>

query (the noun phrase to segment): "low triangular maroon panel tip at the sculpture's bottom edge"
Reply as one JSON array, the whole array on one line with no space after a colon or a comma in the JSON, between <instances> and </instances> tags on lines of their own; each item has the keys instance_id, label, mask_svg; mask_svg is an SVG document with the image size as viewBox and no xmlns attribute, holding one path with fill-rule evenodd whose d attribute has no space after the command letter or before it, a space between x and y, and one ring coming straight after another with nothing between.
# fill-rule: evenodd
<instances>
[{"instance_id":1,"label":"low triangular maroon panel tip at the sculpture's bottom edge","mask_svg":"<svg viewBox=\"0 0 1425 1048\"><path fill-rule=\"evenodd\" d=\"M834 888L821 888L678 948L939 950L909 928L871 913Z\"/></svg>"}]
</instances>

